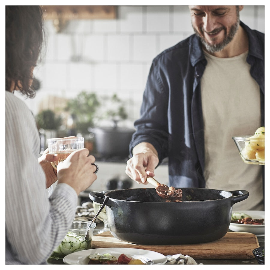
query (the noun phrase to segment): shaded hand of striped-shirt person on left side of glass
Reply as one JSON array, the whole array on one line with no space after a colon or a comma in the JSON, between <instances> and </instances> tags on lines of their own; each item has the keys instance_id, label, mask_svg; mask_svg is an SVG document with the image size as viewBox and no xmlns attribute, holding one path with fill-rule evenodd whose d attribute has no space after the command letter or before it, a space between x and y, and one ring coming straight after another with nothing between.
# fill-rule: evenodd
<instances>
[{"instance_id":1,"label":"shaded hand of striped-shirt person on left side of glass","mask_svg":"<svg viewBox=\"0 0 270 270\"><path fill-rule=\"evenodd\" d=\"M49 149L46 149L42 156L38 158L38 162L46 175L46 188L57 181L57 172L51 164L51 162L56 161L57 159L58 157L54 154L49 154Z\"/></svg>"}]
</instances>

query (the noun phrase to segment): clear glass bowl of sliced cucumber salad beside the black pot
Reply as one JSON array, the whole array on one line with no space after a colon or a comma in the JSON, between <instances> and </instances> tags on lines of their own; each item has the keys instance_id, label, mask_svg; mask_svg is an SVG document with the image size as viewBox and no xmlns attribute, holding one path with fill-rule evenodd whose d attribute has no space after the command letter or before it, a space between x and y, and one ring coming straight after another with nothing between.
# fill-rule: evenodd
<instances>
[{"instance_id":1,"label":"clear glass bowl of sliced cucumber salad beside the black pot","mask_svg":"<svg viewBox=\"0 0 270 270\"><path fill-rule=\"evenodd\" d=\"M73 220L67 235L53 250L50 258L63 259L70 253L90 249L94 228L97 226L95 222L91 226L90 223L91 221L87 220Z\"/></svg>"}]
</instances>

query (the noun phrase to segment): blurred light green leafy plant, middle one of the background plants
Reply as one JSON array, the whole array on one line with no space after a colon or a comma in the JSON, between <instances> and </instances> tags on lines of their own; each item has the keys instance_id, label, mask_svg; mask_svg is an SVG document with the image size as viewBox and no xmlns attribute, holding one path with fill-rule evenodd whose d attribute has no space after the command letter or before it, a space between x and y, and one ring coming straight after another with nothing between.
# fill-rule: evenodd
<instances>
[{"instance_id":1,"label":"blurred light green leafy plant, middle one of the background plants","mask_svg":"<svg viewBox=\"0 0 270 270\"><path fill-rule=\"evenodd\" d=\"M65 110L73 117L77 132L87 133L88 128L94 126L94 118L99 106L100 102L95 93L82 91L76 98L67 102Z\"/></svg>"}]
</instances>

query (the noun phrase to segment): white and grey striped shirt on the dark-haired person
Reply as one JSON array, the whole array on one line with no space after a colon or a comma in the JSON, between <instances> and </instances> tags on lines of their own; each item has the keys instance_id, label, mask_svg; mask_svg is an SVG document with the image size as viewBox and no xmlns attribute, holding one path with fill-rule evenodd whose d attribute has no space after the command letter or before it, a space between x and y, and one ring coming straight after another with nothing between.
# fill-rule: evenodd
<instances>
[{"instance_id":1,"label":"white and grey striped shirt on the dark-haired person","mask_svg":"<svg viewBox=\"0 0 270 270\"><path fill-rule=\"evenodd\" d=\"M41 264L60 244L75 217L77 194L58 184L48 198L38 164L39 134L25 104L6 94L6 241L14 260Z\"/></svg>"}]
</instances>

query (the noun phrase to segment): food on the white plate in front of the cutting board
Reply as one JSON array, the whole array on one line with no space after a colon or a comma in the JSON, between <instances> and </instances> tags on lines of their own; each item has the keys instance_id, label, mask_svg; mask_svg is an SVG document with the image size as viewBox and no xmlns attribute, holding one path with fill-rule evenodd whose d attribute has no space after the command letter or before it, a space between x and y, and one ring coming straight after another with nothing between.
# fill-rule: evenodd
<instances>
[{"instance_id":1,"label":"food on the white plate in front of the cutting board","mask_svg":"<svg viewBox=\"0 0 270 270\"><path fill-rule=\"evenodd\" d=\"M111 255L110 253L106 254L91 254L88 256L88 264L145 264L140 259L134 259L125 254L121 254L118 258Z\"/></svg>"}]
</instances>

